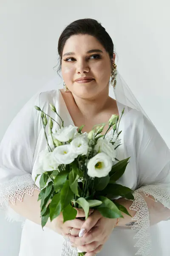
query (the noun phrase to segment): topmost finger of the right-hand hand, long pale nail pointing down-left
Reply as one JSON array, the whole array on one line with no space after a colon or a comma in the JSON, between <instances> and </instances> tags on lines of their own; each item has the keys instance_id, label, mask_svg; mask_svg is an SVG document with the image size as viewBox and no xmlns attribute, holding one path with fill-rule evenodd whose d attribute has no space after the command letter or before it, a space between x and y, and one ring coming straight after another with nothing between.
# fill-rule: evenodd
<instances>
[{"instance_id":1,"label":"topmost finger of the right-hand hand, long pale nail pointing down-left","mask_svg":"<svg viewBox=\"0 0 170 256\"><path fill-rule=\"evenodd\" d=\"M96 225L101 217L102 215L98 211L95 211L92 215L90 215L82 225L79 237L82 237L85 233L88 233L92 229L92 227Z\"/></svg>"}]
</instances>

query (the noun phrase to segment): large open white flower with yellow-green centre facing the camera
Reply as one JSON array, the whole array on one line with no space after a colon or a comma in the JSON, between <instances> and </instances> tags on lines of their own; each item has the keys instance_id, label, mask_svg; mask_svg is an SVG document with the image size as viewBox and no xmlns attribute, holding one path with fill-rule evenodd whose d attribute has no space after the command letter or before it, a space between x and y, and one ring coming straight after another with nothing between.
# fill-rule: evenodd
<instances>
[{"instance_id":1,"label":"large open white flower with yellow-green centre facing the camera","mask_svg":"<svg viewBox=\"0 0 170 256\"><path fill-rule=\"evenodd\" d=\"M105 177L109 174L112 168L112 160L105 153L96 154L87 164L88 176L90 177Z\"/></svg>"}]
</instances>

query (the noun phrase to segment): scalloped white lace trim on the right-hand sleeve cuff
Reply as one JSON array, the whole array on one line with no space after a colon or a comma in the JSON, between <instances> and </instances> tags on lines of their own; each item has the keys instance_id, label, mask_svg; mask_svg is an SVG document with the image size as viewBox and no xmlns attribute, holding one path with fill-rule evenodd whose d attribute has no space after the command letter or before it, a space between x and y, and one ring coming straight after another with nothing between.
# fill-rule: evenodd
<instances>
[{"instance_id":1,"label":"scalloped white lace trim on the right-hand sleeve cuff","mask_svg":"<svg viewBox=\"0 0 170 256\"><path fill-rule=\"evenodd\" d=\"M136 255L151 256L149 209L143 196L139 194L140 192L143 192L146 197L153 196L155 201L159 201L164 207L170 208L170 189L148 185L136 189L133 193L135 200L130 209L136 211L136 215L132 218L136 222L131 229L138 230L134 239L138 239L135 247L140 247Z\"/></svg>"}]
</instances>

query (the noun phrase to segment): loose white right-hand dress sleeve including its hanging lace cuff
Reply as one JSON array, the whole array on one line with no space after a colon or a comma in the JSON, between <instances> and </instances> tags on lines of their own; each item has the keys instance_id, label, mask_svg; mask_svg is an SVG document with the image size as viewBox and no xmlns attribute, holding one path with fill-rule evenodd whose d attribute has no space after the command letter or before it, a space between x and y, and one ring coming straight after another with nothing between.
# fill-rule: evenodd
<instances>
[{"instance_id":1,"label":"loose white right-hand dress sleeve including its hanging lace cuff","mask_svg":"<svg viewBox=\"0 0 170 256\"><path fill-rule=\"evenodd\" d=\"M135 148L138 186L130 209L136 211L136 254L151 255L150 226L170 218L170 150L150 120L137 113Z\"/></svg>"}]
</instances>

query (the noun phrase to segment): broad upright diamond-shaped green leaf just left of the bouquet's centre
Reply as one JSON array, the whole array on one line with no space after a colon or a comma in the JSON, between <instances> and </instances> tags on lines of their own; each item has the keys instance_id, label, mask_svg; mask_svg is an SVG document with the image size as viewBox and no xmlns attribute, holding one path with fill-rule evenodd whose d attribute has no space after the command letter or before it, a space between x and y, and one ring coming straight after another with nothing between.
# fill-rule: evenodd
<instances>
[{"instance_id":1,"label":"broad upright diamond-shaped green leaf just left of the bouquet's centre","mask_svg":"<svg viewBox=\"0 0 170 256\"><path fill-rule=\"evenodd\" d=\"M74 199L74 193L70 189L69 181L66 180L64 186L62 187L61 195L60 195L62 210L66 206L68 206L68 204L70 204L73 199Z\"/></svg>"}]
</instances>

